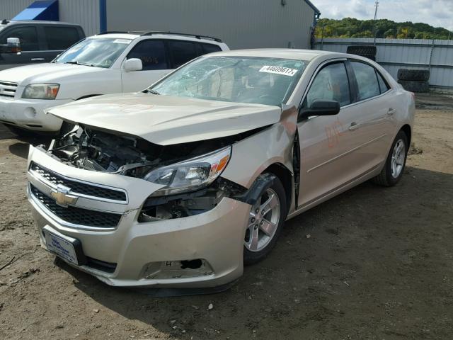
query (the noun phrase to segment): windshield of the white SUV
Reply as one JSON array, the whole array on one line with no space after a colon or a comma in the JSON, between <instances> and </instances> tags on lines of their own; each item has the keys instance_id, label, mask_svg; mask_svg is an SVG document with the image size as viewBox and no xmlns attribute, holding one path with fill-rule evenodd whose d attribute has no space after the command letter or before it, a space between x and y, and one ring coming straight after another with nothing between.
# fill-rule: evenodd
<instances>
[{"instance_id":1,"label":"windshield of the white SUV","mask_svg":"<svg viewBox=\"0 0 453 340\"><path fill-rule=\"evenodd\" d=\"M114 38L82 40L64 51L55 62L108 68L120 57L131 41Z\"/></svg>"}]
</instances>

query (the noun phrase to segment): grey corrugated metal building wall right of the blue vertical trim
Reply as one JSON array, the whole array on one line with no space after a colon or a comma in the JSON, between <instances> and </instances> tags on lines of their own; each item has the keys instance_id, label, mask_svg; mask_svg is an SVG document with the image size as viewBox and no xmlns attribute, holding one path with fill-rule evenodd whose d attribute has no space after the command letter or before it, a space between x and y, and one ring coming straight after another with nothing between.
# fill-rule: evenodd
<instances>
[{"instance_id":1,"label":"grey corrugated metal building wall right of the blue vertical trim","mask_svg":"<svg viewBox=\"0 0 453 340\"><path fill-rule=\"evenodd\" d=\"M108 30L212 35L230 48L309 48L314 10L304 0L107 1Z\"/></svg>"}]
</instances>

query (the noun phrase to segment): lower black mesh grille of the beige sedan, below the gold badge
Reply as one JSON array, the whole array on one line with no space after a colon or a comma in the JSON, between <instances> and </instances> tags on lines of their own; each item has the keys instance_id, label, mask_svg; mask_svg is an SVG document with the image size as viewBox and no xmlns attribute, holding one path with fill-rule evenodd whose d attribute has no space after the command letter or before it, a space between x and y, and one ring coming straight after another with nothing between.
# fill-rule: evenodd
<instances>
[{"instance_id":1,"label":"lower black mesh grille of the beige sedan, below the gold badge","mask_svg":"<svg viewBox=\"0 0 453 340\"><path fill-rule=\"evenodd\" d=\"M50 210L52 214L56 215L64 222L71 223L72 225L96 228L115 228L120 222L120 214L88 210L72 206L65 208L57 205L53 198L50 198L45 195L45 193L42 193L42 191L38 190L38 188L33 186L33 184L30 184L30 192L40 201L40 203L42 203L42 205L45 205L45 208Z\"/></svg>"}]
</instances>

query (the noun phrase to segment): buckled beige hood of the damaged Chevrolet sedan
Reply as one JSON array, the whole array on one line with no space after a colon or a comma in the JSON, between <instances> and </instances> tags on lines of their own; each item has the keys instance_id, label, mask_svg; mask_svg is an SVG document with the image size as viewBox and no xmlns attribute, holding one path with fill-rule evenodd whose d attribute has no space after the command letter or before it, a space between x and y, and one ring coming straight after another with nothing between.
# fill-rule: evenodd
<instances>
[{"instance_id":1,"label":"buckled beige hood of the damaged Chevrolet sedan","mask_svg":"<svg viewBox=\"0 0 453 340\"><path fill-rule=\"evenodd\" d=\"M236 135L280 120L282 109L153 94L113 94L50 108L73 123L125 132L159 145Z\"/></svg>"}]
</instances>

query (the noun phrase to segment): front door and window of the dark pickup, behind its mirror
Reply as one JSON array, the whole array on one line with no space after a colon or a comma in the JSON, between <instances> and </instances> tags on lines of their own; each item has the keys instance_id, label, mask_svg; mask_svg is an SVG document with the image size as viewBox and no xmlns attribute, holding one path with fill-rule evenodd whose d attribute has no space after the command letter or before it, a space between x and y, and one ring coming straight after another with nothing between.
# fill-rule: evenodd
<instances>
[{"instance_id":1,"label":"front door and window of the dark pickup, behind its mirror","mask_svg":"<svg viewBox=\"0 0 453 340\"><path fill-rule=\"evenodd\" d=\"M22 52L20 54L0 52L0 70L11 67L43 62L41 48L42 40L40 30L35 25L12 25L1 31L0 45L6 45L8 38L21 40Z\"/></svg>"}]
</instances>

